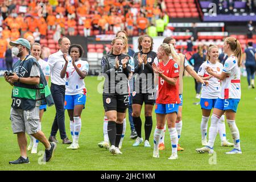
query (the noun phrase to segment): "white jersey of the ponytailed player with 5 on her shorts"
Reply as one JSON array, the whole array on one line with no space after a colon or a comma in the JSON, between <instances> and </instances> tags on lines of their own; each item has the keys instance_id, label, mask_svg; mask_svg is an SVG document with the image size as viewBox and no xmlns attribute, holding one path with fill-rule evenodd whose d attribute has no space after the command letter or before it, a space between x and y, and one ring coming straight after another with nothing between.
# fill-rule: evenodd
<instances>
[{"instance_id":1,"label":"white jersey of the ponytailed player with 5 on her shorts","mask_svg":"<svg viewBox=\"0 0 256 182\"><path fill-rule=\"evenodd\" d=\"M240 69L237 64L236 56L229 56L225 61L222 72L228 73L228 76L222 80L221 99L241 98Z\"/></svg>"}]
</instances>

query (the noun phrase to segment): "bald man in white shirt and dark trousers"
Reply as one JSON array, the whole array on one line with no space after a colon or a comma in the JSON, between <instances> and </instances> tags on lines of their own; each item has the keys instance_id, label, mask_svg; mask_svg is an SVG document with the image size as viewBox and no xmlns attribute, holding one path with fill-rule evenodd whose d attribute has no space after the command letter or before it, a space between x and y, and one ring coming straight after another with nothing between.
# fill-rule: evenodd
<instances>
[{"instance_id":1,"label":"bald man in white shirt and dark trousers","mask_svg":"<svg viewBox=\"0 0 256 182\"><path fill-rule=\"evenodd\" d=\"M60 38L59 41L60 50L49 56L48 64L51 70L51 93L55 102L56 115L52 123L50 142L58 142L56 140L56 134L58 129L60 130L60 138L63 140L63 144L71 144L65 131L65 110L64 110L64 98L65 98L65 78L60 77L60 71L65 64L63 53L68 53L68 49L71 45L70 40L66 37ZM69 56L71 60L71 57Z\"/></svg>"}]
</instances>

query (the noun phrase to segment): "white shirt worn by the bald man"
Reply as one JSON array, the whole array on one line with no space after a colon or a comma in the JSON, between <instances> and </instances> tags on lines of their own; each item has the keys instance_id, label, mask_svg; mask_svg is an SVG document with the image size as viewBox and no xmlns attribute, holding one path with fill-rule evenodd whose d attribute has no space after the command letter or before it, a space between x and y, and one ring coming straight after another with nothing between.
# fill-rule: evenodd
<instances>
[{"instance_id":1,"label":"white shirt worn by the bald man","mask_svg":"<svg viewBox=\"0 0 256 182\"><path fill-rule=\"evenodd\" d=\"M72 60L69 55L68 60ZM49 55L48 64L51 70L51 82L56 85L65 85L65 78L60 77L60 72L65 64L63 52L58 51Z\"/></svg>"}]
</instances>

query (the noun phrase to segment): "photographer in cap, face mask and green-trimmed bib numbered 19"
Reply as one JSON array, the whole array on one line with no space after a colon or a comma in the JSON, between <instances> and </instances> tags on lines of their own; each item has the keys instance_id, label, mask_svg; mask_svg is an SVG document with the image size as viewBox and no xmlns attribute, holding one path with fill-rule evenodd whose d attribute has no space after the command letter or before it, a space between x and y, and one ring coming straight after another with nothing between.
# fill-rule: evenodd
<instances>
[{"instance_id":1,"label":"photographer in cap, face mask and green-trimmed bib numbered 19","mask_svg":"<svg viewBox=\"0 0 256 182\"><path fill-rule=\"evenodd\" d=\"M11 104L11 126L17 134L20 157L9 164L30 163L27 157L26 134L31 134L46 147L44 159L48 162L56 148L56 143L49 143L42 131L39 131L39 106L53 105L51 92L46 78L36 59L29 54L30 43L26 39L10 42L12 53L19 58L13 66L13 72L5 73L5 80L13 86Z\"/></svg>"}]
</instances>

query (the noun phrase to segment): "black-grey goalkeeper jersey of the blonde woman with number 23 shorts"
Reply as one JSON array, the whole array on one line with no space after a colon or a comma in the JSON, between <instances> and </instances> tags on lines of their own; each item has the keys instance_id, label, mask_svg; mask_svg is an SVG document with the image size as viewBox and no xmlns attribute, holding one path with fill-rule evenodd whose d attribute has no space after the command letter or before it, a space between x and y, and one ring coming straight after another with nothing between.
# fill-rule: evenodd
<instances>
[{"instance_id":1,"label":"black-grey goalkeeper jersey of the blonde woman with number 23 shorts","mask_svg":"<svg viewBox=\"0 0 256 182\"><path fill-rule=\"evenodd\" d=\"M119 68L115 68L115 57L118 56ZM121 55L114 55L109 53L101 59L102 73L105 77L104 91L103 93L113 93L113 94L127 94L129 93L129 82L128 77L131 73L131 59L129 56L129 61L126 64L126 68L123 68L121 63L122 59L126 56L123 53Z\"/></svg>"}]
</instances>

